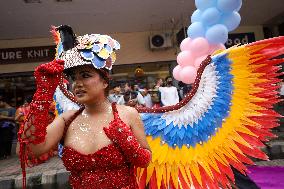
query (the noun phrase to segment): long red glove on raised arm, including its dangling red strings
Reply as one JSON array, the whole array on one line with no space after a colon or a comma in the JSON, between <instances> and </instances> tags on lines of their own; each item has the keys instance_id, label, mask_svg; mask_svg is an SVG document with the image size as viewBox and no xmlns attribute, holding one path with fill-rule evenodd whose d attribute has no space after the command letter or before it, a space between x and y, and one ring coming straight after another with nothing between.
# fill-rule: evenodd
<instances>
[{"instance_id":1,"label":"long red glove on raised arm, including its dangling red strings","mask_svg":"<svg viewBox=\"0 0 284 189\"><path fill-rule=\"evenodd\" d=\"M46 128L50 123L49 109L53 102L53 95L64 69L63 60L54 60L42 64L35 69L37 90L30 103L30 111L20 126L18 140L20 142L20 160L23 174L23 188L26 188L26 163L36 164L36 157L33 155L29 144L44 142ZM29 156L31 161L29 161Z\"/></svg>"}]
</instances>

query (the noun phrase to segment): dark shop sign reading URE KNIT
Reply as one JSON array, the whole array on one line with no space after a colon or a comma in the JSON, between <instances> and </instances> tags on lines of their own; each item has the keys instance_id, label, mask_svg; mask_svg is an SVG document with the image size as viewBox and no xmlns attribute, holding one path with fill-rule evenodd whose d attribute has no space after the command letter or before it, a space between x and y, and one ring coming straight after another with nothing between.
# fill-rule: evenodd
<instances>
[{"instance_id":1,"label":"dark shop sign reading URE KNIT","mask_svg":"<svg viewBox=\"0 0 284 189\"><path fill-rule=\"evenodd\" d=\"M0 49L0 65L53 60L55 46Z\"/></svg>"}]
</instances>

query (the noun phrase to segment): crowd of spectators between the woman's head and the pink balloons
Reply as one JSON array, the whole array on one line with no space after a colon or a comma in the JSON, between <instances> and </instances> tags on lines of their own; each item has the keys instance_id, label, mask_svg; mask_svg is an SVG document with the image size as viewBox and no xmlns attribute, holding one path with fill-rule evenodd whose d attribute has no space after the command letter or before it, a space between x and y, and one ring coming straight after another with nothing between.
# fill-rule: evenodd
<instances>
[{"instance_id":1,"label":"crowd of spectators between the woman's head and the pink balloons","mask_svg":"<svg viewBox=\"0 0 284 189\"><path fill-rule=\"evenodd\" d=\"M109 90L110 102L132 107L161 107L177 104L189 92L191 85L182 82L177 87L171 76L157 78L156 83L143 85L139 83L114 83Z\"/></svg>"}]
</instances>

